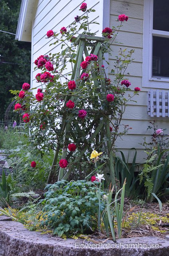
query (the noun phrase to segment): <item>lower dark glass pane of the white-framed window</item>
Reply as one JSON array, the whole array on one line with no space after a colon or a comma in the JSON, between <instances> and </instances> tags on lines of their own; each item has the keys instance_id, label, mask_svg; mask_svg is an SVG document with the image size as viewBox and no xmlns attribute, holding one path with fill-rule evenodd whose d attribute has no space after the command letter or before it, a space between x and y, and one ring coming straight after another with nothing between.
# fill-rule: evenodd
<instances>
[{"instance_id":1,"label":"lower dark glass pane of the white-framed window","mask_svg":"<svg viewBox=\"0 0 169 256\"><path fill-rule=\"evenodd\" d=\"M153 37L153 70L154 77L169 77L169 38Z\"/></svg>"}]
</instances>

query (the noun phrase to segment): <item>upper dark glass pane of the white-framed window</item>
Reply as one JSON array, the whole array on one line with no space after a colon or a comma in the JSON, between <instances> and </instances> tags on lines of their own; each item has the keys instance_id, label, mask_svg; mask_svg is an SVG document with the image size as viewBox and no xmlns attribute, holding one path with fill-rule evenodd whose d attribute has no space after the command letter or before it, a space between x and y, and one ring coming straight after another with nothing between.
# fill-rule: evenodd
<instances>
[{"instance_id":1,"label":"upper dark glass pane of the white-framed window","mask_svg":"<svg viewBox=\"0 0 169 256\"><path fill-rule=\"evenodd\" d=\"M154 0L153 29L169 31L169 0Z\"/></svg>"}]
</instances>

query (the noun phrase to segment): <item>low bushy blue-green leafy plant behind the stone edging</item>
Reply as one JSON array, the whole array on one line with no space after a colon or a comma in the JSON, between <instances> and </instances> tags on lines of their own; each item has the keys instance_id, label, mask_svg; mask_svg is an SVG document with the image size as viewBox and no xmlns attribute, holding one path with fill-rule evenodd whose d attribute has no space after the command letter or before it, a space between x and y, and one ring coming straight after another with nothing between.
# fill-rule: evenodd
<instances>
[{"instance_id":1,"label":"low bushy blue-green leafy plant behind the stone edging","mask_svg":"<svg viewBox=\"0 0 169 256\"><path fill-rule=\"evenodd\" d=\"M91 181L58 181L48 185L48 191L42 201L42 225L53 230L54 234L89 233L97 227L98 198L96 191L99 182ZM101 195L104 192L101 192ZM100 203L103 211L104 204Z\"/></svg>"}]
</instances>

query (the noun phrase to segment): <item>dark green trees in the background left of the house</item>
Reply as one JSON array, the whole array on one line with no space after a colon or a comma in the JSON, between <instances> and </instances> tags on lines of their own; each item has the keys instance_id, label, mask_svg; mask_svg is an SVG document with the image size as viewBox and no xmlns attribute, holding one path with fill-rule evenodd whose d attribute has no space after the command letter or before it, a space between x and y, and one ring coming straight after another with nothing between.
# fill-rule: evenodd
<instances>
[{"instance_id":1,"label":"dark green trees in the background left of the house","mask_svg":"<svg viewBox=\"0 0 169 256\"><path fill-rule=\"evenodd\" d=\"M0 0L0 30L16 34L21 0ZM0 31L0 120L11 102L10 89L30 83L31 43L15 40L15 35Z\"/></svg>"}]
</instances>

